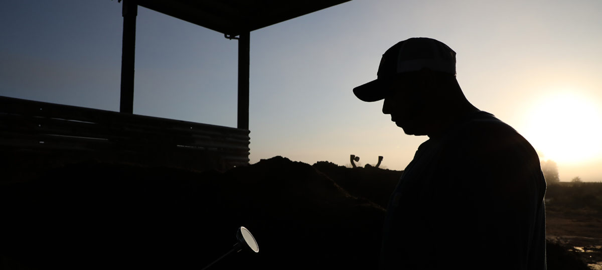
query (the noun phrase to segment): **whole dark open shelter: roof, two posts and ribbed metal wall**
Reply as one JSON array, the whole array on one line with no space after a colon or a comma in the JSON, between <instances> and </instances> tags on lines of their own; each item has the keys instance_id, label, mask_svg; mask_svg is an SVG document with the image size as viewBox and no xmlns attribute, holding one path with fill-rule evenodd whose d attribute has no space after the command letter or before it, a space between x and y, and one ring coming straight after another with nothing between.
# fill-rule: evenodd
<instances>
[{"instance_id":1,"label":"whole dark open shelter: roof, two posts and ribbed metal wall","mask_svg":"<svg viewBox=\"0 0 602 270\"><path fill-rule=\"evenodd\" d=\"M0 97L2 151L228 169L249 163L250 32L350 0L123 0L120 112ZM238 40L237 128L134 115L138 6ZM117 158L119 157L119 158ZM18 158L16 159L18 160ZM38 162L39 163L39 162Z\"/></svg>"}]
</instances>

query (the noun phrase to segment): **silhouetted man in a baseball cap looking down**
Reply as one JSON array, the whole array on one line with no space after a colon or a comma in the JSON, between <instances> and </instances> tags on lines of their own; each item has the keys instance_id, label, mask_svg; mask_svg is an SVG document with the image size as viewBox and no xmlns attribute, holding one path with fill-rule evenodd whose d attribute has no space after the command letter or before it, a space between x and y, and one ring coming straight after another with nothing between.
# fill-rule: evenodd
<instances>
[{"instance_id":1,"label":"silhouetted man in a baseball cap looking down","mask_svg":"<svg viewBox=\"0 0 602 270\"><path fill-rule=\"evenodd\" d=\"M377 79L353 93L384 99L382 112L406 134L429 136L389 199L380 268L546 268L539 158L464 97L450 47L401 41L382 56Z\"/></svg>"}]
</instances>

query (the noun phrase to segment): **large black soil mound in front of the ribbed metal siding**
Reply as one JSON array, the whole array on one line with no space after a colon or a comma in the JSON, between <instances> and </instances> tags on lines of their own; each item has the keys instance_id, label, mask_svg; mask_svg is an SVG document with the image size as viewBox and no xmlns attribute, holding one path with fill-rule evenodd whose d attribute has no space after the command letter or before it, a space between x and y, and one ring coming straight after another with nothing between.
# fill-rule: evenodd
<instances>
[{"instance_id":1,"label":"large black soil mound in front of the ribbed metal siding","mask_svg":"<svg viewBox=\"0 0 602 270\"><path fill-rule=\"evenodd\" d=\"M40 175L0 189L11 268L200 269L239 226L260 252L211 269L377 265L383 210L305 163L275 157L225 173L90 163Z\"/></svg>"}]
</instances>

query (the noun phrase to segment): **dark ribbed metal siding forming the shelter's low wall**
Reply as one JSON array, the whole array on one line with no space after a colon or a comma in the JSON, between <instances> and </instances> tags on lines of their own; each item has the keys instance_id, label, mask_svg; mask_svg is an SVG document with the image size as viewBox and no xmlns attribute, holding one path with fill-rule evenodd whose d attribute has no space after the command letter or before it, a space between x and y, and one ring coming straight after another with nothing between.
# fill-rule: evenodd
<instances>
[{"instance_id":1,"label":"dark ribbed metal siding forming the shelter's low wall","mask_svg":"<svg viewBox=\"0 0 602 270\"><path fill-rule=\"evenodd\" d=\"M0 97L0 146L13 150L228 169L249 163L249 140L238 128Z\"/></svg>"}]
</instances>

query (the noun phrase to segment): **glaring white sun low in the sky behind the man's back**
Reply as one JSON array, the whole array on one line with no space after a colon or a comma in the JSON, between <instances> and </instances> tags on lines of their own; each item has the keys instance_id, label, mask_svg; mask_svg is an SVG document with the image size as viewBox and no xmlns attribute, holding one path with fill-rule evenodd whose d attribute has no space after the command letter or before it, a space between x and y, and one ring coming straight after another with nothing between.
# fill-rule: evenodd
<instances>
[{"instance_id":1,"label":"glaring white sun low in the sky behind the man's back","mask_svg":"<svg viewBox=\"0 0 602 270\"><path fill-rule=\"evenodd\" d=\"M591 99L574 92L551 94L524 120L523 135L544 160L577 164L602 154L602 112Z\"/></svg>"}]
</instances>

